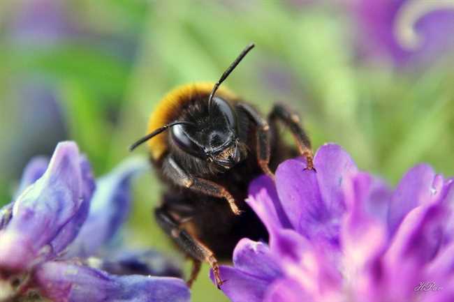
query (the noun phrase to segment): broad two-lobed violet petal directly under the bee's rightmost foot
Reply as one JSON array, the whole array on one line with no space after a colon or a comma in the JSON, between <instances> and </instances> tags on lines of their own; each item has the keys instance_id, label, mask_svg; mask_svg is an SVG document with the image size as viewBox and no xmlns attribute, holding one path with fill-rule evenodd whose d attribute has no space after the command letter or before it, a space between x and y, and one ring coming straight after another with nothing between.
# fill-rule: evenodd
<instances>
[{"instance_id":1,"label":"broad two-lobed violet petal directly under the bee's rightmost foot","mask_svg":"<svg viewBox=\"0 0 454 302\"><path fill-rule=\"evenodd\" d=\"M276 172L279 199L294 229L308 239L338 245L339 218L345 211L342 182L357 171L350 156L336 144L325 144L314 158L286 160Z\"/></svg>"}]
</instances>

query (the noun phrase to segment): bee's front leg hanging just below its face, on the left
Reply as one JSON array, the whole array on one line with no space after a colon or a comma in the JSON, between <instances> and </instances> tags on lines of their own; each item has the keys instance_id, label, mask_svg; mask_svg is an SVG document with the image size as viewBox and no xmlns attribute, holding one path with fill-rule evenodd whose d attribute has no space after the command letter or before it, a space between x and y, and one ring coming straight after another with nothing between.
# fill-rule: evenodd
<instances>
[{"instance_id":1,"label":"bee's front leg hanging just below its face, on the left","mask_svg":"<svg viewBox=\"0 0 454 302\"><path fill-rule=\"evenodd\" d=\"M213 197L225 198L227 199L230 209L235 215L240 215L241 211L238 209L238 206L235 204L235 198L228 192L226 188L214 181L209 181L207 179L201 179L199 177L193 177L190 174L186 173L180 165L178 165L175 160L168 156L163 162L163 171L170 181L177 184L178 186L184 186L191 190L198 192L203 192L206 195Z\"/></svg>"}]
</instances>

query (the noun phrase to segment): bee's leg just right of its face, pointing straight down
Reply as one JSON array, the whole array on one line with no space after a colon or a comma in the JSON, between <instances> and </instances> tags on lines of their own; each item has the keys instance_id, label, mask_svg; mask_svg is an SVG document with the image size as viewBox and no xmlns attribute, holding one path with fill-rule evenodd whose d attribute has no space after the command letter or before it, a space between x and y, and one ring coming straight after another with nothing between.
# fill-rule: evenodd
<instances>
[{"instance_id":1,"label":"bee's leg just right of its face, pointing straight down","mask_svg":"<svg viewBox=\"0 0 454 302\"><path fill-rule=\"evenodd\" d=\"M266 119L250 105L240 103L237 105L241 110L247 113L249 119L251 119L257 126L257 159L258 165L261 167L263 173L271 176L274 179L274 174L271 172L270 154L271 154L271 143L270 143L270 125Z\"/></svg>"}]
</instances>

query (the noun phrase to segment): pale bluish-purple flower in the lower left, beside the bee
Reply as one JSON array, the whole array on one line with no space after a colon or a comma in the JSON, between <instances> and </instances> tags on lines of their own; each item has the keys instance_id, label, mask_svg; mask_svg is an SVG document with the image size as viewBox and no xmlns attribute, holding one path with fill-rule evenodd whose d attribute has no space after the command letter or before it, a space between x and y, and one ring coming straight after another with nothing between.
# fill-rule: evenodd
<instances>
[{"instance_id":1,"label":"pale bluish-purple flower in the lower left, beside the bee","mask_svg":"<svg viewBox=\"0 0 454 302\"><path fill-rule=\"evenodd\" d=\"M130 179L143 167L127 160L95 190L73 142L58 144L48 165L32 160L17 198L0 211L0 301L189 301L183 280L150 275L180 275L156 253L103 251L126 219Z\"/></svg>"}]
</instances>

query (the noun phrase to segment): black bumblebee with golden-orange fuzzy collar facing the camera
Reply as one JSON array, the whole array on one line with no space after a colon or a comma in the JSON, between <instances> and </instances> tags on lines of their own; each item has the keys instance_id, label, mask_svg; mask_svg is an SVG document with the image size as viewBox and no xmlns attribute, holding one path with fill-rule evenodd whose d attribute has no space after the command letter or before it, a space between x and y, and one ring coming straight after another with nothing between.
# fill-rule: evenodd
<instances>
[{"instance_id":1,"label":"black bumblebee with golden-orange fuzzy collar facing the camera","mask_svg":"<svg viewBox=\"0 0 454 302\"><path fill-rule=\"evenodd\" d=\"M244 202L249 183L278 163L304 156L313 169L309 138L297 114L274 105L264 118L253 105L220 87L246 54L248 45L216 83L180 86L168 93L149 117L148 133L131 145L147 142L151 163L166 183L156 221L193 260L188 285L202 262L212 267L219 288L219 260L229 260L240 239L268 241L268 233ZM297 148L281 141L279 123Z\"/></svg>"}]
</instances>

